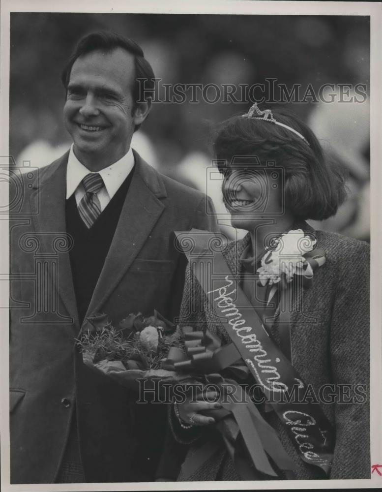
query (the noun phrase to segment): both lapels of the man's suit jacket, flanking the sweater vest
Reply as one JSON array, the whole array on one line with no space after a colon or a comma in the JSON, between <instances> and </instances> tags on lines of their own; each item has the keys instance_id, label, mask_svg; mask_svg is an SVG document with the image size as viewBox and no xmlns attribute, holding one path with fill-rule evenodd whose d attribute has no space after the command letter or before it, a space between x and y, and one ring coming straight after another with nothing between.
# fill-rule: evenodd
<instances>
[{"instance_id":1,"label":"both lapels of the man's suit jacket, flanking the sweater vest","mask_svg":"<svg viewBox=\"0 0 382 492\"><path fill-rule=\"evenodd\" d=\"M160 200L167 196L161 175L139 154L135 151L133 153L136 169L87 315L99 310L105 303L145 244L165 208ZM30 205L31 210L38 210L38 214L33 215L33 222L39 242L39 253L55 254L58 257L59 296L78 331L79 320L69 257L71 238L66 233L65 224L68 154L69 152L42 170L39 181L33 185ZM58 238L64 238L67 247L61 247L56 251Z\"/></svg>"}]
</instances>

